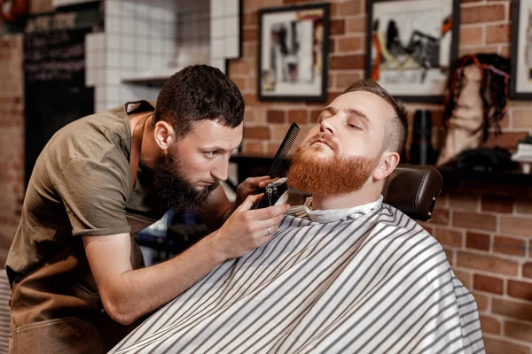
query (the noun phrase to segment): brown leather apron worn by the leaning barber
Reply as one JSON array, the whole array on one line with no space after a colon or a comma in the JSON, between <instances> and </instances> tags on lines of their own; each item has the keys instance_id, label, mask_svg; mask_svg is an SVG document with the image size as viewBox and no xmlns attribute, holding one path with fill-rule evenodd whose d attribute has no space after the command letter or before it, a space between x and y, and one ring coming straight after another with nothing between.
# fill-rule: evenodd
<instances>
[{"instance_id":1,"label":"brown leather apron worn by the leaning barber","mask_svg":"<svg viewBox=\"0 0 532 354\"><path fill-rule=\"evenodd\" d=\"M133 186L145 121L137 123L132 136L129 166ZM132 230L139 230L154 220L129 214L128 221ZM134 269L144 266L133 235L131 265ZM106 314L82 237L73 237L62 253L13 284L11 314L12 354L105 353L143 320L122 326Z\"/></svg>"}]
</instances>

